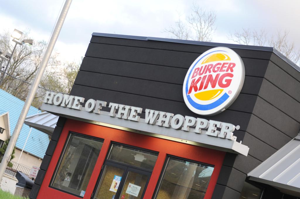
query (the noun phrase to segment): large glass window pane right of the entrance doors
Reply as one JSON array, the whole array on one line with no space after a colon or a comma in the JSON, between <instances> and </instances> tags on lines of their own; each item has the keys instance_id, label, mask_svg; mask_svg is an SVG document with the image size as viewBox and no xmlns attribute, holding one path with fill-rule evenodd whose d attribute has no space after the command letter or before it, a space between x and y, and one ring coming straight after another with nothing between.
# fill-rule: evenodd
<instances>
[{"instance_id":1,"label":"large glass window pane right of the entrance doors","mask_svg":"<svg viewBox=\"0 0 300 199\"><path fill-rule=\"evenodd\" d=\"M171 157L157 199L204 198L214 168Z\"/></svg>"}]
</instances>

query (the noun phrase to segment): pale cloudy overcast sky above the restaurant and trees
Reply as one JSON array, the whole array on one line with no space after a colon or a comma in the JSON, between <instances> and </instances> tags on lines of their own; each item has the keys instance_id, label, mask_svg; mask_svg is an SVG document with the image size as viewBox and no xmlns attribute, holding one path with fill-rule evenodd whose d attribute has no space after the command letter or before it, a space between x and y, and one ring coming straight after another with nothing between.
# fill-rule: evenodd
<instances>
[{"instance_id":1,"label":"pale cloudy overcast sky above the restaurant and trees","mask_svg":"<svg viewBox=\"0 0 300 199\"><path fill-rule=\"evenodd\" d=\"M217 14L213 42L229 43L230 31L265 28L276 34L289 31L289 40L300 47L299 0L73 0L55 49L61 60L84 56L93 32L148 37L168 37L164 28L174 25L178 12L191 12L192 3ZM0 32L30 29L34 40L48 41L63 0L0 0Z\"/></svg>"}]
</instances>

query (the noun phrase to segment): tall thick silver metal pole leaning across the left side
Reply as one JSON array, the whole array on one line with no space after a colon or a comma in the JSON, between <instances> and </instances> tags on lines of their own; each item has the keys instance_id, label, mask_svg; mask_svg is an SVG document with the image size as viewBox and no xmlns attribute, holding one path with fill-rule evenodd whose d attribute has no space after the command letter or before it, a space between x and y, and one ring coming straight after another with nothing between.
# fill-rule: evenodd
<instances>
[{"instance_id":1,"label":"tall thick silver metal pole leaning across the left side","mask_svg":"<svg viewBox=\"0 0 300 199\"><path fill-rule=\"evenodd\" d=\"M57 37L58 37L59 32L61 30L61 27L62 27L62 25L64 23L64 19L67 16L67 12L68 12L68 10L70 8L71 2L72 2L72 0L66 0L66 2L64 3L64 7L61 10L60 16L59 16L59 18L57 20L57 23L55 25L55 28L54 28L53 33L51 35L51 38L49 40L48 46L46 48L44 57L43 57L42 62L41 62L41 66L40 66L40 68L38 70L37 75L35 76L35 80L33 81L32 85L30 87L30 90L29 90L29 93L27 95L24 107L23 107L22 112L21 112L21 114L19 116L19 119L18 119L18 122L16 124L16 127L15 127L15 129L13 131L13 135L11 136L10 141L9 141L9 143L7 145L7 149L6 149L5 153L4 153L2 162L0 164L0 182L2 180L5 168L7 166L7 162L9 161L9 159L11 157L11 152L13 151L13 148L16 145L16 140L18 139L19 133L20 133L20 131L22 129L22 126L24 124L26 115L27 115L27 113L29 111L30 105L31 105L31 103L33 101L33 98L35 96L35 92L38 89L38 85L39 85L39 83L41 81L41 78L43 76L43 73L44 73L44 71L46 69L46 65L47 65L47 63L49 61L49 58L50 58L50 55L51 55L52 50L54 48L55 42L57 40Z\"/></svg>"}]
</instances>

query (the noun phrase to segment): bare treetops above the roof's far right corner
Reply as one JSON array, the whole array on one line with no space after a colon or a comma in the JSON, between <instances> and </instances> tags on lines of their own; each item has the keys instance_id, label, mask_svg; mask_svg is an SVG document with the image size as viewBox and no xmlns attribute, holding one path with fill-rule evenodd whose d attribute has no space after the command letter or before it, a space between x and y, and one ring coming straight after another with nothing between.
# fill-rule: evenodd
<instances>
[{"instance_id":1,"label":"bare treetops above the roof's far right corner","mask_svg":"<svg viewBox=\"0 0 300 199\"><path fill-rule=\"evenodd\" d=\"M242 45L274 47L284 56L299 65L300 48L296 49L295 43L289 42L288 35L288 31L278 30L276 35L272 34L268 37L264 29L251 31L250 29L243 28L242 31L230 33L228 39Z\"/></svg>"}]
</instances>

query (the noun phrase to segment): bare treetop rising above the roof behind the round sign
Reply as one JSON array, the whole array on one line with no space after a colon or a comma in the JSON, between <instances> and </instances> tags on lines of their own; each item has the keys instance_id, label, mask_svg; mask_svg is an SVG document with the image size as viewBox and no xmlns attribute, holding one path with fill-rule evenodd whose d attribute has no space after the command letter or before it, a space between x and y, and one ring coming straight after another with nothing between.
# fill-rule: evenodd
<instances>
[{"instance_id":1,"label":"bare treetop rising above the roof behind the round sign","mask_svg":"<svg viewBox=\"0 0 300 199\"><path fill-rule=\"evenodd\" d=\"M164 32L170 33L171 38L183 40L195 40L211 42L212 34L215 31L216 13L206 11L193 3L192 12L185 21L179 19L175 27L170 26Z\"/></svg>"}]
</instances>

